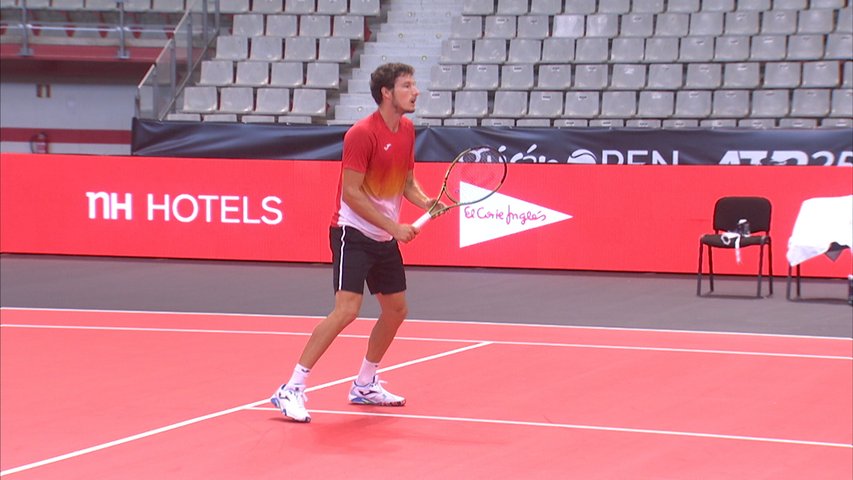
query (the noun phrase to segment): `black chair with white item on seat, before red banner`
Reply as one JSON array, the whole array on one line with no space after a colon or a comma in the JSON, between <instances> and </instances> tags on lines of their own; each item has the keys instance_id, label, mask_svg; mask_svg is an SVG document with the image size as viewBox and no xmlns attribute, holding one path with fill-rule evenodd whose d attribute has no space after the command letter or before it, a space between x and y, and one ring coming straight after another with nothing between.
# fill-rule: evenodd
<instances>
[{"instance_id":1,"label":"black chair with white item on seat, before red banner","mask_svg":"<svg viewBox=\"0 0 853 480\"><path fill-rule=\"evenodd\" d=\"M764 247L767 246L768 279L770 295L773 295L773 245L770 240L770 201L762 197L722 197L714 205L714 233L702 235L699 239L699 269L696 274L696 295L702 294L702 254L708 250L708 279L711 292L714 291L715 248L748 248L759 246L758 255L758 291L761 297L762 270L764 267ZM743 221L749 225L749 235L735 236L738 225Z\"/></svg>"}]
</instances>

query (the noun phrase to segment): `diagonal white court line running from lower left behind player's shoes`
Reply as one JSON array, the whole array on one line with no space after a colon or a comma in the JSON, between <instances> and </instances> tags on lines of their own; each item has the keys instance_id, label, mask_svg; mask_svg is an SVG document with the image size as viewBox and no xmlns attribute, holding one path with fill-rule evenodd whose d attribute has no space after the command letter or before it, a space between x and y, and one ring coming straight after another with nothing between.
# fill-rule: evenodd
<instances>
[{"instance_id":1,"label":"diagonal white court line running from lower left behind player's shoes","mask_svg":"<svg viewBox=\"0 0 853 480\"><path fill-rule=\"evenodd\" d=\"M418 364L418 363L428 362L428 361L430 361L430 360L436 360L436 359L438 359L438 358L442 358L442 357L448 357L448 356L450 356L450 355L455 355L455 354L457 354L457 353L466 352L466 351L468 351L468 350L473 350L473 349L475 349L475 348L485 347L485 346L488 346L488 345L491 345L491 344L490 344L489 342L483 342L483 343L478 343L478 344L476 344L476 345L468 345L467 347L461 347L461 348L457 348L457 349L455 349L455 350L449 350L449 351L447 351L447 352L437 353L437 354L435 354L435 355L430 355L430 356L427 356L427 357L421 357L421 358L418 358L418 359L415 359L415 360L410 360L410 361L408 361L408 362L402 362L402 363L398 363L398 364L396 364L396 365L391 365L391 366L389 366L389 367L380 368L378 371L379 371L380 373L381 373L381 372L388 372L388 371L391 371L391 370L396 370L396 369L398 369L398 368L408 367L408 366L410 366L410 365L415 365L415 364ZM311 388L307 388L305 391L306 391L306 392L313 392L313 391L321 390L321 389L328 388L328 387L331 387L331 386L334 386L334 385L340 385L340 384L342 384L342 383L351 382L351 381L353 381L354 379L355 379L355 375L353 375L353 376L351 376L351 377L346 377L346 378L342 378L342 379L339 379L339 380L335 380L335 381L332 381L332 382L324 383L324 384L322 384L322 385L317 385L317 386L314 386L314 387L311 387ZM6 475L11 475L11 474L13 474L13 473L23 472L23 471L26 471L26 470L32 470L33 468L38 468L38 467L42 467L42 466L45 466L45 465L50 465L50 464L52 464L52 463L61 462L61 461L63 461L63 460L68 460L68 459L70 459L70 458L80 457L80 456L82 456L82 455L87 455L87 454L89 454L89 453L98 452L98 451L101 451L101 450L105 450L105 449L107 449L107 448L115 447L115 446L118 446L118 445L123 445L123 444L125 444L125 443L130 443L130 442L133 442L133 441L136 441L136 440L141 440L141 439L143 439L143 438L151 437L151 436L158 435L158 434L161 434L161 433L165 433L165 432L168 432L168 431L171 431L171 430L176 430L176 429L178 429L178 428L186 427L186 426L188 426L188 425L193 425L193 424L195 424L195 423L203 422L203 421L205 421L205 420L210 420L210 419L212 419L212 418L222 417L222 416L225 416L225 415L229 415L229 414L232 414L232 413L236 413L236 412L239 412L239 411L241 411L241 410L251 409L251 408L253 408L253 407L258 407L259 405L263 405L264 403L266 403L266 402L268 402L268 401L269 401L269 400L264 399L264 400L259 400L259 401L257 401L257 402L247 403L246 405L240 405L239 407L229 408L229 409L227 409L227 410L222 410L222 411L215 412L215 413L211 413L211 414L208 414L208 415L202 415L202 416L200 416L200 417L191 418L191 419L189 419L189 420L184 420L183 422L173 423L173 424L171 424L171 425L167 425L167 426L165 426L165 427L155 428L155 429L153 429L153 430L148 430L147 432L142 432L142 433L139 433L139 434L136 434L136 435L131 435L131 436L129 436L129 437L120 438L120 439L118 439L118 440L113 440L113 441L111 441L111 442L102 443L102 444L100 444L100 445L95 445L95 446L92 446L92 447L89 447L89 448L84 448L84 449L81 449L81 450L76 450L76 451L73 451L73 452L66 453L66 454L64 454L64 455L58 455L58 456L51 457L51 458L47 458L47 459L45 459L45 460L41 460L41 461L38 461L38 462L28 463L28 464L26 464L26 465L21 465L21 466L19 466L19 467L9 468L9 469L7 469L7 470L3 470L2 472L0 472L0 477L6 476Z\"/></svg>"}]
</instances>

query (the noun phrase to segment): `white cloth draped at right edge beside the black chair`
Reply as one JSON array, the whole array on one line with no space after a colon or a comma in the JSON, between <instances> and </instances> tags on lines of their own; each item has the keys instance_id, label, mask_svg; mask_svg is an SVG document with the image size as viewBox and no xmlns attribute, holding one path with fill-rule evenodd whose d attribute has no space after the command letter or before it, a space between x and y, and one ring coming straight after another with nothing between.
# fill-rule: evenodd
<instances>
[{"instance_id":1,"label":"white cloth draped at right edge beside the black chair","mask_svg":"<svg viewBox=\"0 0 853 480\"><path fill-rule=\"evenodd\" d=\"M853 246L853 195L803 202L788 240L788 264L796 266L827 253L833 242Z\"/></svg>"}]
</instances>

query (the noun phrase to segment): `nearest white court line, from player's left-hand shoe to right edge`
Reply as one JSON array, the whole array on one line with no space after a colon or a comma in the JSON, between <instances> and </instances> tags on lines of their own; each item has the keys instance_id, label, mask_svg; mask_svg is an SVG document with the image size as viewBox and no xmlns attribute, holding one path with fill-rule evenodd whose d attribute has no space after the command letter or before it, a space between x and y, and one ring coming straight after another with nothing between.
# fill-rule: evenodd
<instances>
[{"instance_id":1,"label":"nearest white court line, from player's left-hand shoe to right edge","mask_svg":"<svg viewBox=\"0 0 853 480\"><path fill-rule=\"evenodd\" d=\"M274 408L251 407L249 410L277 411ZM700 433L700 432L679 432L673 430L651 430L645 428L625 428L625 427L603 427L597 425L574 425L570 423L547 423L547 422L525 422L518 420L493 420L486 418L466 418L466 417L446 417L437 415L407 415L400 413L376 413L376 412L355 412L345 410L310 410L311 413L322 413L329 415L354 415L365 417L391 417L391 418L407 418L413 420L438 420L446 422L465 422L465 423L485 423L493 425L515 425L524 427L546 427L546 428L564 428L570 430L593 430L602 432L617 432L617 433L642 433L650 435L665 435L675 437L695 437L695 438L712 438L718 440L741 440L749 442L762 443L785 443L792 445L805 445L815 447L833 447L833 448L851 448L853 445L846 443L832 442L816 442L811 440L794 440L787 438L772 438L772 437L750 437L742 435L723 435L717 433Z\"/></svg>"}]
</instances>

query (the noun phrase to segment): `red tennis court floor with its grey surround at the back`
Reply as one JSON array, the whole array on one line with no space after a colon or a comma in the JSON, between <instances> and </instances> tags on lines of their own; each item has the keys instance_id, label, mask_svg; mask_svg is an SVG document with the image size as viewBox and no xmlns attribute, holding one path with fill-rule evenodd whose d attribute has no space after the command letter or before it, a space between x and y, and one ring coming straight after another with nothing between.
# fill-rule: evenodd
<instances>
[{"instance_id":1,"label":"red tennis court floor with its grey surround at the back","mask_svg":"<svg viewBox=\"0 0 853 480\"><path fill-rule=\"evenodd\" d=\"M740 298L745 279L727 279L720 298L688 299L678 293L695 283L678 277L574 275L565 290L564 276L545 272L415 269L419 295L450 290L451 278L479 283L467 289L477 298L448 293L431 310L413 288L424 315L404 324L382 365L407 405L346 401L372 326L366 305L314 369L306 425L267 398L327 307L327 293L302 291L325 285L325 267L0 262L4 478L853 477L853 315L833 298L837 282L807 283L807 302ZM288 277L275 301L247 280L265 275ZM225 306L217 282L242 284L243 298L204 311ZM584 296L584 283L607 294ZM509 307L506 289L524 308ZM659 291L647 299L659 303L657 326L636 300L647 289ZM179 298L183 308L156 308ZM257 311L278 302L292 312ZM583 325L595 305L609 315ZM768 313L720 315L715 329L706 310L720 306L736 319ZM459 318L440 318L454 310Z\"/></svg>"}]
</instances>

